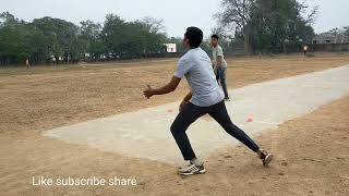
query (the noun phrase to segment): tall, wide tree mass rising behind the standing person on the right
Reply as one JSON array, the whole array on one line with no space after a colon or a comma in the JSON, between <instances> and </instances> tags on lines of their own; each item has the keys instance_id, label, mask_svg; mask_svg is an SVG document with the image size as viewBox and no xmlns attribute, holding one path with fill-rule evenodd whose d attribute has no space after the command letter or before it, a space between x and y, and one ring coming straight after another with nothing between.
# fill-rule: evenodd
<instances>
[{"instance_id":1,"label":"tall, wide tree mass rising behind the standing person on the right","mask_svg":"<svg viewBox=\"0 0 349 196\"><path fill-rule=\"evenodd\" d=\"M222 0L218 14L222 28L233 27L234 42L244 42L254 53L293 52L311 42L311 23L317 7L306 19L308 7L297 0ZM229 32L229 30L228 30Z\"/></svg>"}]
</instances>

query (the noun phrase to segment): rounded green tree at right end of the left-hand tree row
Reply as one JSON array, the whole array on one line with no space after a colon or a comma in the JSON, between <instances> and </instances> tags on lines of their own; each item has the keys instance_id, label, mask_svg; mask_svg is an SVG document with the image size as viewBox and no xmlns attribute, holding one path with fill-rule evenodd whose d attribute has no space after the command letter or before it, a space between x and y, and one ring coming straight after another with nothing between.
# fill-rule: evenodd
<instances>
[{"instance_id":1,"label":"rounded green tree at right end of the left-hand tree row","mask_svg":"<svg viewBox=\"0 0 349 196\"><path fill-rule=\"evenodd\" d=\"M101 30L108 54L112 58L134 59L164 53L164 40L157 28L143 21L124 22L108 14Z\"/></svg>"}]
</instances>

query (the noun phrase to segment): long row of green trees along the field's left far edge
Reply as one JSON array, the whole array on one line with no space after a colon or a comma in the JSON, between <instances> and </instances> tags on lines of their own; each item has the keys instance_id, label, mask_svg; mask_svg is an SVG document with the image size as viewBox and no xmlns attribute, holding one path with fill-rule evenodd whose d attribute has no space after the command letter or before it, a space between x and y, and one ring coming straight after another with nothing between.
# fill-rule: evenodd
<instances>
[{"instance_id":1,"label":"long row of green trees along the field's left far edge","mask_svg":"<svg viewBox=\"0 0 349 196\"><path fill-rule=\"evenodd\" d=\"M108 14L104 25L92 21L80 26L60 19L43 17L32 23L4 12L0 14L0 65L80 60L164 57L168 38L163 21L145 17L125 22Z\"/></svg>"}]
</instances>

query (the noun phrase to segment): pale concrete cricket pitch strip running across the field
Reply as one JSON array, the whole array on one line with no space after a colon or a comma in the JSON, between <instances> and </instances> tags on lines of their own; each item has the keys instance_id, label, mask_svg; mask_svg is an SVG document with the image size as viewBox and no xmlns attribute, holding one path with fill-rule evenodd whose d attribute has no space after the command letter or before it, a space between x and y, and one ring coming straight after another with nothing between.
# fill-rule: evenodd
<instances>
[{"instance_id":1,"label":"pale concrete cricket pitch strip running across the field","mask_svg":"<svg viewBox=\"0 0 349 196\"><path fill-rule=\"evenodd\" d=\"M345 97L349 94L348 84L349 65L346 65L230 90L232 101L226 106L232 121L253 137ZM182 157L169 131L178 106L179 102L172 102L96 119L49 130L43 135L128 157L178 163ZM246 122L250 115L253 122ZM192 124L188 135L196 155L204 158L227 145L238 144L218 123L206 118Z\"/></svg>"}]
</instances>

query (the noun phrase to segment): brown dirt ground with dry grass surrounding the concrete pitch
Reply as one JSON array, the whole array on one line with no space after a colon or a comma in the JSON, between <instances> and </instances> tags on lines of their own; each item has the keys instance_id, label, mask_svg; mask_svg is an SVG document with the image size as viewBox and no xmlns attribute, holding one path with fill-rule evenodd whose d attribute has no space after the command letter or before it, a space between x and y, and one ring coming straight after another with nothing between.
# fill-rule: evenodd
<instances>
[{"instance_id":1,"label":"brown dirt ground with dry grass surrounding the concrete pitch","mask_svg":"<svg viewBox=\"0 0 349 196\"><path fill-rule=\"evenodd\" d=\"M228 85L336 68L348 54L228 60ZM348 195L349 98L265 132L258 142L276 155L264 169L244 147L217 152L208 173L182 179L173 166L41 137L41 131L181 99L146 100L142 90L168 82L174 61L0 70L0 195ZM135 121L136 122L136 121ZM137 186L38 187L32 176L135 177Z\"/></svg>"}]
</instances>

